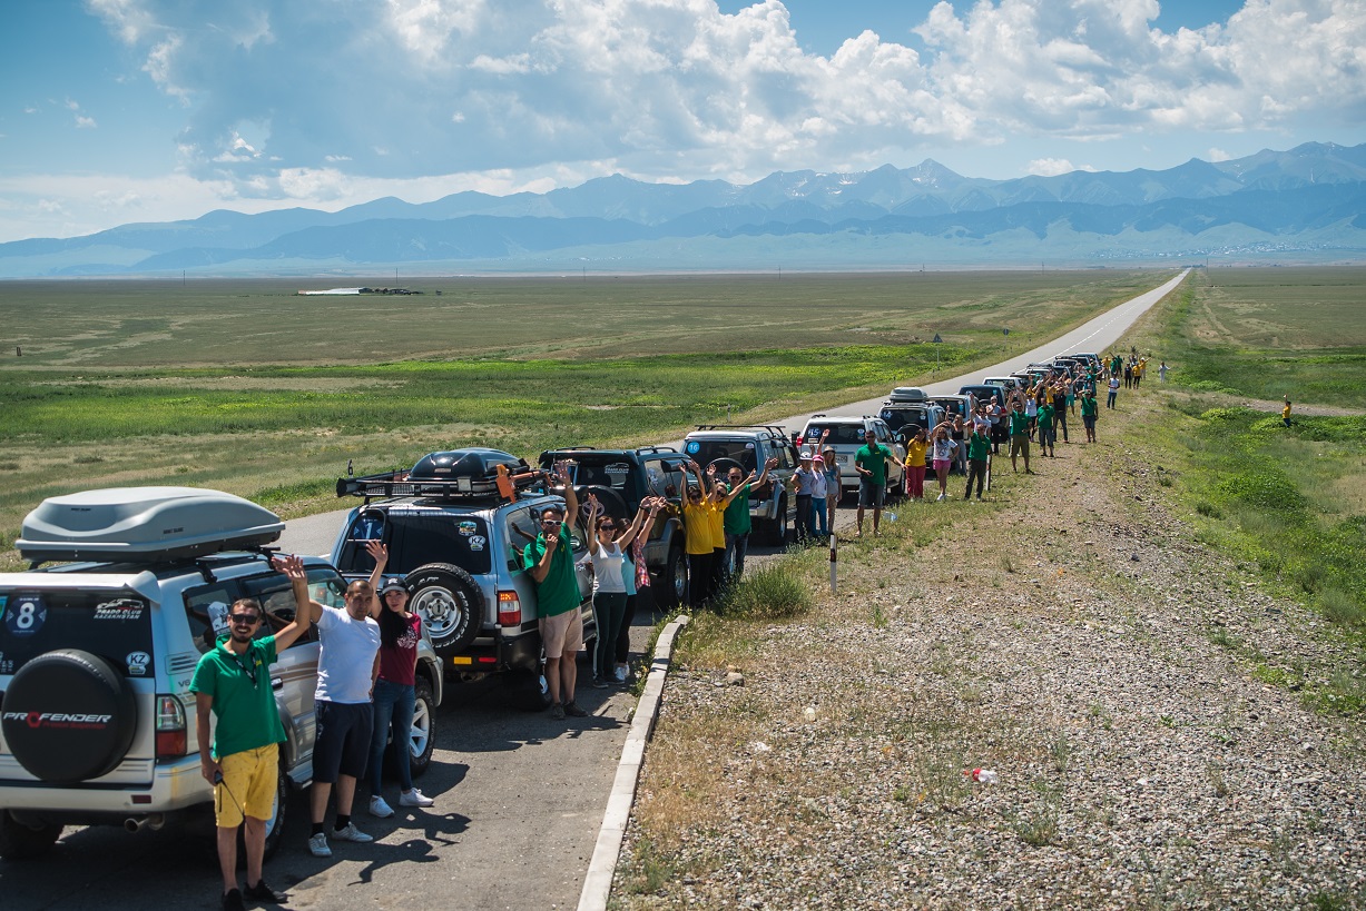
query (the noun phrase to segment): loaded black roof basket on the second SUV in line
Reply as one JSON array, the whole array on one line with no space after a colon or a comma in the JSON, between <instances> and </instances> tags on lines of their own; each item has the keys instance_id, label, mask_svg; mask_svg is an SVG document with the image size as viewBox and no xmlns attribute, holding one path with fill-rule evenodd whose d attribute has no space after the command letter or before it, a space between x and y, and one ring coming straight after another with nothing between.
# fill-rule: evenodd
<instances>
[{"instance_id":1,"label":"loaded black roof basket on the second SUV in line","mask_svg":"<svg viewBox=\"0 0 1366 911\"><path fill-rule=\"evenodd\" d=\"M545 483L545 473L529 466L526 459L475 447L432 452L400 471L337 478L337 496L511 501L520 492L544 489Z\"/></svg>"}]
</instances>

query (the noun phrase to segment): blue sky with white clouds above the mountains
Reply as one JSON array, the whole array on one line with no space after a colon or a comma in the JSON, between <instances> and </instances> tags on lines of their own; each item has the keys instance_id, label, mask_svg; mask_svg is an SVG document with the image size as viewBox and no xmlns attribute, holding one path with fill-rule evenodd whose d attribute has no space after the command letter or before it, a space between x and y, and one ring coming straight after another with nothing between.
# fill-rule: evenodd
<instances>
[{"instance_id":1,"label":"blue sky with white clouds above the mountains","mask_svg":"<svg viewBox=\"0 0 1366 911\"><path fill-rule=\"evenodd\" d=\"M0 242L213 209L1366 142L1363 0L4 0Z\"/></svg>"}]
</instances>

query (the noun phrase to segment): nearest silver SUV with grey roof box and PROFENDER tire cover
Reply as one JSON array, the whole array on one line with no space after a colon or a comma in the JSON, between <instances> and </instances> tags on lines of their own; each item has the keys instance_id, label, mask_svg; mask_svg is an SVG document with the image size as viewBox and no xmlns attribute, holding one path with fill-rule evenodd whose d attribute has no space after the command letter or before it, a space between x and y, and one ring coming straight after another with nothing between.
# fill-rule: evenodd
<instances>
[{"instance_id":1,"label":"nearest silver SUV with grey roof box and PROFENDER tire cover","mask_svg":"<svg viewBox=\"0 0 1366 911\"><path fill-rule=\"evenodd\" d=\"M0 856L42 854L66 825L137 832L198 815L212 830L190 679L238 598L261 601L261 635L294 619L290 580L264 549L283 527L254 503L195 488L92 490L29 514L16 548L31 567L0 574ZM40 568L53 561L70 563ZM336 570L305 565L313 598L342 606ZM314 627L270 667L287 740L266 851L288 788L313 779L317 662ZM437 667L419 646L414 773L432 758Z\"/></svg>"}]
</instances>

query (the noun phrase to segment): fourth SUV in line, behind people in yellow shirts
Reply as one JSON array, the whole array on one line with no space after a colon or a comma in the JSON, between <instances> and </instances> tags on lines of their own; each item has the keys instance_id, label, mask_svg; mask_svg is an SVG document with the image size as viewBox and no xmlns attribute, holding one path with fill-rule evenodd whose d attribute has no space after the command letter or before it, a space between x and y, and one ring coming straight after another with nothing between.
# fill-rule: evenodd
<instances>
[{"instance_id":1,"label":"fourth SUV in line, behind people in yellow shirts","mask_svg":"<svg viewBox=\"0 0 1366 911\"><path fill-rule=\"evenodd\" d=\"M788 530L796 520L792 474L798 455L783 428L703 423L683 437L683 452L703 468L717 463L721 478L732 464L747 477L751 471L762 471L769 459L777 459L777 467L769 471L764 485L750 490L750 520L768 544L787 544Z\"/></svg>"}]
</instances>

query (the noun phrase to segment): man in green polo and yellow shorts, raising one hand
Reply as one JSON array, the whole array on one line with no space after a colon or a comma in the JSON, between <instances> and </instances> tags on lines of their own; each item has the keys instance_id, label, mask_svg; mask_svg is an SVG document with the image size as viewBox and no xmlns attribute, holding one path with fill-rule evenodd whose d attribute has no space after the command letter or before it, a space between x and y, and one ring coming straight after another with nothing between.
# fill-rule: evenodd
<instances>
[{"instance_id":1,"label":"man in green polo and yellow shorts, raising one hand","mask_svg":"<svg viewBox=\"0 0 1366 911\"><path fill-rule=\"evenodd\" d=\"M285 739L270 687L270 665L309 631L309 575L296 556L272 560L290 578L294 621L275 635L257 638L262 609L255 598L239 598L228 609L228 635L199 658L190 680L198 724L199 772L213 785L223 907L238 911L243 897L280 904L288 896L266 885L265 824L270 818ZM209 743L210 714L217 718ZM245 828L247 888L238 888L238 829Z\"/></svg>"}]
</instances>

